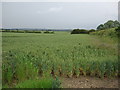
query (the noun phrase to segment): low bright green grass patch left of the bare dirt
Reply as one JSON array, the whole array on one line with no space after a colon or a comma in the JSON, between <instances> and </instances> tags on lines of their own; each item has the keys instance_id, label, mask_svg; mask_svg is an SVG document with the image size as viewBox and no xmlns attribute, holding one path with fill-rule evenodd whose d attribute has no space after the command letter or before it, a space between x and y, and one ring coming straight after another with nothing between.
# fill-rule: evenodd
<instances>
[{"instance_id":1,"label":"low bright green grass patch left of the bare dirt","mask_svg":"<svg viewBox=\"0 0 120 90\"><path fill-rule=\"evenodd\" d=\"M56 78L46 77L36 80L26 80L18 83L15 88L60 88L60 81Z\"/></svg>"}]
</instances>

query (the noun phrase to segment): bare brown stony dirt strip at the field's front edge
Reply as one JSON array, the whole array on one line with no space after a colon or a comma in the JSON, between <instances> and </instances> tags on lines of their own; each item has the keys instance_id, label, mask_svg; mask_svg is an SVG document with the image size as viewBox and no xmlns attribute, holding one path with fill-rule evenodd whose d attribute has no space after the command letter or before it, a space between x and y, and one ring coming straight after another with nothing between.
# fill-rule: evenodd
<instances>
[{"instance_id":1,"label":"bare brown stony dirt strip at the field's front edge","mask_svg":"<svg viewBox=\"0 0 120 90\"><path fill-rule=\"evenodd\" d=\"M118 88L118 79L96 77L60 78L63 88Z\"/></svg>"}]
</instances>

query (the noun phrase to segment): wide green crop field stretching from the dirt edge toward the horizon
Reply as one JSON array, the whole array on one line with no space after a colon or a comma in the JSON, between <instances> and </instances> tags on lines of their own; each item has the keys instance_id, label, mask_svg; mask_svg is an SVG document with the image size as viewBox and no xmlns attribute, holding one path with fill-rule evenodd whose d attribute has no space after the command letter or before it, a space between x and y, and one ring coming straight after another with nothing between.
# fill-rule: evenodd
<instances>
[{"instance_id":1,"label":"wide green crop field stretching from the dirt edge toward the horizon","mask_svg":"<svg viewBox=\"0 0 120 90\"><path fill-rule=\"evenodd\" d=\"M3 86L36 77L118 76L117 42L89 34L2 33Z\"/></svg>"}]
</instances>

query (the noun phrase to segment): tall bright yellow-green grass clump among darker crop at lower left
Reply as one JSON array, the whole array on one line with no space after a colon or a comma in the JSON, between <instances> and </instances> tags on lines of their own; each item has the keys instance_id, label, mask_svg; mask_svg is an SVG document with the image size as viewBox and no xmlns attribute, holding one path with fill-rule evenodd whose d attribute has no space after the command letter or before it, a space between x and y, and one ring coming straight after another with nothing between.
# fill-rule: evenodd
<instances>
[{"instance_id":1,"label":"tall bright yellow-green grass clump among darker crop at lower left","mask_svg":"<svg viewBox=\"0 0 120 90\"><path fill-rule=\"evenodd\" d=\"M19 82L26 79L33 79L38 76L38 70L29 61L21 61L16 64L15 77Z\"/></svg>"}]
</instances>

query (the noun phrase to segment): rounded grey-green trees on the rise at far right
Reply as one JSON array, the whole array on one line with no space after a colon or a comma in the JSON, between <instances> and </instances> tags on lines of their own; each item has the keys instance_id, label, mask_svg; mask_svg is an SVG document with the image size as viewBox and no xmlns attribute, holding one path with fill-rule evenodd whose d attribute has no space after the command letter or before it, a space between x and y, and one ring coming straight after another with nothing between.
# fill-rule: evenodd
<instances>
[{"instance_id":1,"label":"rounded grey-green trees on the rise at far right","mask_svg":"<svg viewBox=\"0 0 120 90\"><path fill-rule=\"evenodd\" d=\"M118 22L117 20L115 20L115 21L109 20L109 21L107 21L104 24L100 24L97 27L97 30L104 30L104 29L109 29L109 28L116 28L116 27L119 27L119 26L120 26L120 22Z\"/></svg>"}]
</instances>

